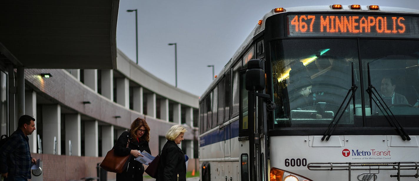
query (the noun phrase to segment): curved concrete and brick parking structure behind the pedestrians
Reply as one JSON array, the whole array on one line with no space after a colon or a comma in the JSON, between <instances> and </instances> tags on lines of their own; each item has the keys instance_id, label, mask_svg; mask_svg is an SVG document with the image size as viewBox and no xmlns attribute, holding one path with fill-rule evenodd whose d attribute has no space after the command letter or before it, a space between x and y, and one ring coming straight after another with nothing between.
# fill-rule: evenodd
<instances>
[{"instance_id":1,"label":"curved concrete and brick parking structure behind the pedestrians","mask_svg":"<svg viewBox=\"0 0 419 181\"><path fill-rule=\"evenodd\" d=\"M57 155L53 155L52 153L49 153L51 151L46 151L45 148L48 147L46 143L43 142L43 148L44 148L44 154L38 154L38 153L32 153L32 156L34 158L41 158L43 161L43 171L44 171L44 181L56 181L56 180L80 180L80 178L83 177L96 177L96 164L100 163L103 160L103 157L97 157L98 155L98 138L94 138L91 140L86 140L86 131L84 135L81 135L80 130L74 131L70 128L70 122L65 122L66 124L60 125L60 119L62 116L65 117L65 121L72 121L77 123L76 127L80 127L80 121L82 124L85 125L84 129L86 130L96 130L95 135L98 135L98 127L102 126L102 131L112 131L116 130L115 137L119 137L121 131L118 130L125 130L129 129L131 122L135 120L137 117L145 118L148 125L150 126L150 150L152 152L152 155L157 155L159 152L159 137L164 137L166 135L167 130L176 124L180 124L180 115L181 115L181 109L180 107L187 107L189 109L189 112L193 112L193 109L198 108L198 96L190 94L189 92L186 92L184 90L178 89L174 87L173 85L170 85L166 82L163 82L162 80L158 79L157 77L153 76L149 72L142 69L140 66L133 63L131 60L127 59L127 57L120 51L118 51L118 59L117 59L118 69L117 70L111 70L109 73L109 76L106 76L106 82L109 83L110 80L112 80L114 77L114 73L117 72L118 78L121 79L120 75L122 74L122 79L126 79L129 84L131 85L131 82L134 82L137 84L135 88L135 98L134 101L143 101L144 99L147 99L147 94L151 94L155 97L158 95L160 99L165 99L165 102L174 103L176 106L177 111L173 113L173 116L176 116L175 122L168 122L168 117L165 117L163 119L157 119L155 115L143 115L142 114L142 103L134 106L134 110L129 109L129 104L120 105L113 101L112 96L110 95L113 91L114 86L104 86L108 87L108 89L112 90L104 90L103 85L101 92L105 93L106 96L102 96L99 94L97 89L92 89L92 87L96 87L96 84L98 83L96 73L92 74L91 76L96 77L93 78L93 80L90 80L89 85L85 85L82 82L80 82L80 77L75 77L68 71L64 69L25 69L25 86L28 89L28 91L33 92L33 101L36 102L35 105L31 105L31 112L36 113L36 106L40 105L42 107L42 114L39 117L36 117L37 120L42 120L43 125L43 135L44 138L49 137L52 133L49 133L46 129L48 128L47 125L51 125L49 123L54 123L54 125L57 125L54 127L54 130L60 130L62 127L66 127L66 137L69 137L70 135L74 136L75 138L72 138L72 156L69 156L69 150L66 146L66 153L67 155L60 155L61 149L60 144L58 144L58 152ZM75 69L77 70L77 69ZM73 70L74 71L74 70ZM39 76L41 73L48 72L52 74L53 76L46 79ZM78 70L80 72L80 70ZM96 72L93 70L93 72ZM108 75L108 74L106 74ZM84 79L91 79L91 77L88 74L84 74ZM92 83L93 82L93 83ZM103 83L103 82L102 82ZM112 82L111 82L112 84ZM125 86L125 91L127 91L127 86ZM118 87L116 89L119 89ZM145 92L145 90L147 92ZM151 93L150 93L151 91ZM29 92L29 93L30 93ZM128 94L128 93L127 93ZM141 94L141 95L139 95ZM28 94L29 95L29 94ZM41 100L36 100L37 97L42 97ZM126 99L127 100L127 99ZM131 101L131 100L128 100ZM89 103L83 103L83 102L89 102ZM147 102L148 103L148 102ZM140 105L140 106L139 106ZM153 109L150 109L149 105L154 105ZM150 110L156 110L156 104L147 104L147 109ZM54 109L54 112L51 112L50 107L56 107ZM48 109L47 109L48 108ZM61 113L60 113L61 112ZM155 112L155 111L154 111ZM33 113L33 115L35 115ZM48 116L51 117L51 114L54 113L54 118L47 119ZM168 113L165 113L168 114ZM70 115L77 115L78 118L76 120L70 119ZM81 117L81 118L80 118ZM186 118L188 125L192 125L192 122L190 118L192 115L186 114ZM49 120L49 122L48 122ZM94 122L94 124L88 125L87 122ZM198 121L198 120L196 120ZM49 126L50 127L50 126ZM103 129L104 127L111 127L111 130L109 129ZM191 128L186 126L188 128L188 132L185 133L185 140L191 141L194 139L193 131ZM68 128L68 129L67 129ZM81 129L81 128L80 128ZM71 133L67 133L71 132ZM106 133L107 134L107 133ZM106 135L103 134L102 135ZM197 133L198 134L198 133ZM57 135L57 138L59 140L65 140L65 144L68 144L67 138L59 138L60 133L54 133L54 135ZM98 135L99 136L99 135ZM80 145L80 141L78 138L84 138L85 145L84 149L89 149L88 152L84 150L84 154L86 156L80 156L80 148L77 148L77 145ZM93 138L93 136L89 136L89 138ZM106 136L105 136L106 137ZM109 143L109 141L113 141L112 136L107 136L106 140L105 138L102 138L102 152L101 155L104 156L108 150L103 149L109 149L109 147L112 145ZM35 139L34 139L35 140ZM45 140L45 139L44 139ZM44 141L43 140L43 141ZM58 143L60 141L58 140ZM106 141L106 143L105 143ZM33 142L36 142L33 141ZM48 143L51 141L48 141ZM91 149L90 147L86 146L86 144L94 145L95 149ZM36 143L33 143L32 147L35 147ZM50 146L49 146L50 147ZM189 148L188 148L189 149ZM49 149L50 150L50 149ZM93 152L92 152L93 150ZM36 149L31 149L31 152L36 152ZM190 151L188 153L191 153ZM193 155L189 155L190 158L193 157ZM195 168L194 165L195 161L194 159L190 159L189 161L189 168L188 171L191 171ZM197 161L199 164L199 162ZM198 166L199 167L199 166ZM108 180L112 180L115 178L115 173L108 173ZM58 179L59 178L59 179Z\"/></svg>"}]
</instances>

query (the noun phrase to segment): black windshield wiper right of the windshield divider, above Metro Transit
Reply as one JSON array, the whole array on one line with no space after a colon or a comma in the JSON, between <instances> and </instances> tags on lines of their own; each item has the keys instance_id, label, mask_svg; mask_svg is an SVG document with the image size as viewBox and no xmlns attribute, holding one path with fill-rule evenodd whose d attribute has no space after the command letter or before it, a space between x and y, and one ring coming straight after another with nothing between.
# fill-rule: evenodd
<instances>
[{"instance_id":1,"label":"black windshield wiper right of the windshield divider, above Metro Transit","mask_svg":"<svg viewBox=\"0 0 419 181\"><path fill-rule=\"evenodd\" d=\"M387 114L387 115L384 115L385 119L388 121L388 123L390 123L391 126L396 127L396 131L401 136L401 139L402 140L411 140L409 135L404 130L403 126L401 126L400 122L398 122L398 120L394 116L393 112L391 112L390 108L387 106L387 104L385 103L383 98L380 96L377 89L375 89L375 87L372 86L371 76L370 76L370 63L367 64L367 68L368 68L368 89L366 91L370 95L371 115L372 115L372 101L373 101L372 96L371 96L371 94L372 94L375 97L375 100L378 102L377 103L376 101L374 101L375 105L377 105L378 109L380 109L381 112L383 112L383 113L385 112L385 114ZM378 97L380 97L380 99L378 99L377 95L378 95ZM383 109L381 109L380 105L378 105L378 104L380 104Z\"/></svg>"}]
</instances>

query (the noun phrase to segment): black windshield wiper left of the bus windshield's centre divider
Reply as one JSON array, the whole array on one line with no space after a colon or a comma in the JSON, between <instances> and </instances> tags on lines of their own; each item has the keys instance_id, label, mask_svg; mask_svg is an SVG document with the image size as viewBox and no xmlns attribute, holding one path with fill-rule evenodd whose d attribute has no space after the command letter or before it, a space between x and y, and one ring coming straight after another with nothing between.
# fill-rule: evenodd
<instances>
[{"instance_id":1,"label":"black windshield wiper left of the bus windshield's centre divider","mask_svg":"<svg viewBox=\"0 0 419 181\"><path fill-rule=\"evenodd\" d=\"M354 114L355 114L355 92L357 91L358 86L355 85L355 76L354 76L354 63L352 62L352 87L348 89L348 93L346 94L345 99L343 99L342 104L339 106L339 109L336 111L335 116L333 117L332 122L330 122L329 126L326 129L326 132L324 132L323 137L321 138L321 140L323 141L324 138L326 138L326 141L329 140L330 136L332 135L333 131L335 130L336 126L339 123L339 120L341 119L341 117L343 116L343 113L345 112L344 110L347 109L347 107L349 106L349 103L351 102L350 100L352 99L352 103L354 105ZM349 93L351 93L351 96L349 97L349 101L347 102L345 108L342 110L342 112L340 113L339 118L336 120L336 123L334 124L334 126L332 127L333 123L335 122L335 119L337 117L337 115L339 115L340 110L342 109L344 103L346 102L346 100L348 99ZM327 136L327 137L326 137Z\"/></svg>"}]
</instances>

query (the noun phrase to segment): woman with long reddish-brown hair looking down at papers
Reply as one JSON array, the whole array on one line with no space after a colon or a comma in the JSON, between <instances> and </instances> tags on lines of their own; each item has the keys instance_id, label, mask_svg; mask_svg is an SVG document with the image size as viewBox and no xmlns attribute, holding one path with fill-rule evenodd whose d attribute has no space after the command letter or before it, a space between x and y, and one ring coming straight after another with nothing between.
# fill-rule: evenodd
<instances>
[{"instance_id":1,"label":"woman with long reddish-brown hair looking down at papers","mask_svg":"<svg viewBox=\"0 0 419 181\"><path fill-rule=\"evenodd\" d=\"M144 150L151 154L149 141L150 127L145 119L138 117L131 123L131 129L119 136L114 146L116 155L131 155L126 163L127 168L122 173L116 173L116 181L142 181L144 166L134 158L142 156L141 152Z\"/></svg>"}]
</instances>

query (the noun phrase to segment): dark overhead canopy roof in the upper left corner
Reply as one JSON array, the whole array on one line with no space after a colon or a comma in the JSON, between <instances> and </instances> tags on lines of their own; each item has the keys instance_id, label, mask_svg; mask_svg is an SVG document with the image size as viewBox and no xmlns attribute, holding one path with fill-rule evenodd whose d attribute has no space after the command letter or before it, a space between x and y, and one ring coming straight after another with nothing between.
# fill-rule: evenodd
<instances>
[{"instance_id":1,"label":"dark overhead canopy roof in the upper left corner","mask_svg":"<svg viewBox=\"0 0 419 181\"><path fill-rule=\"evenodd\" d=\"M25 68L114 69L118 8L119 0L1 0L2 60Z\"/></svg>"}]
</instances>

